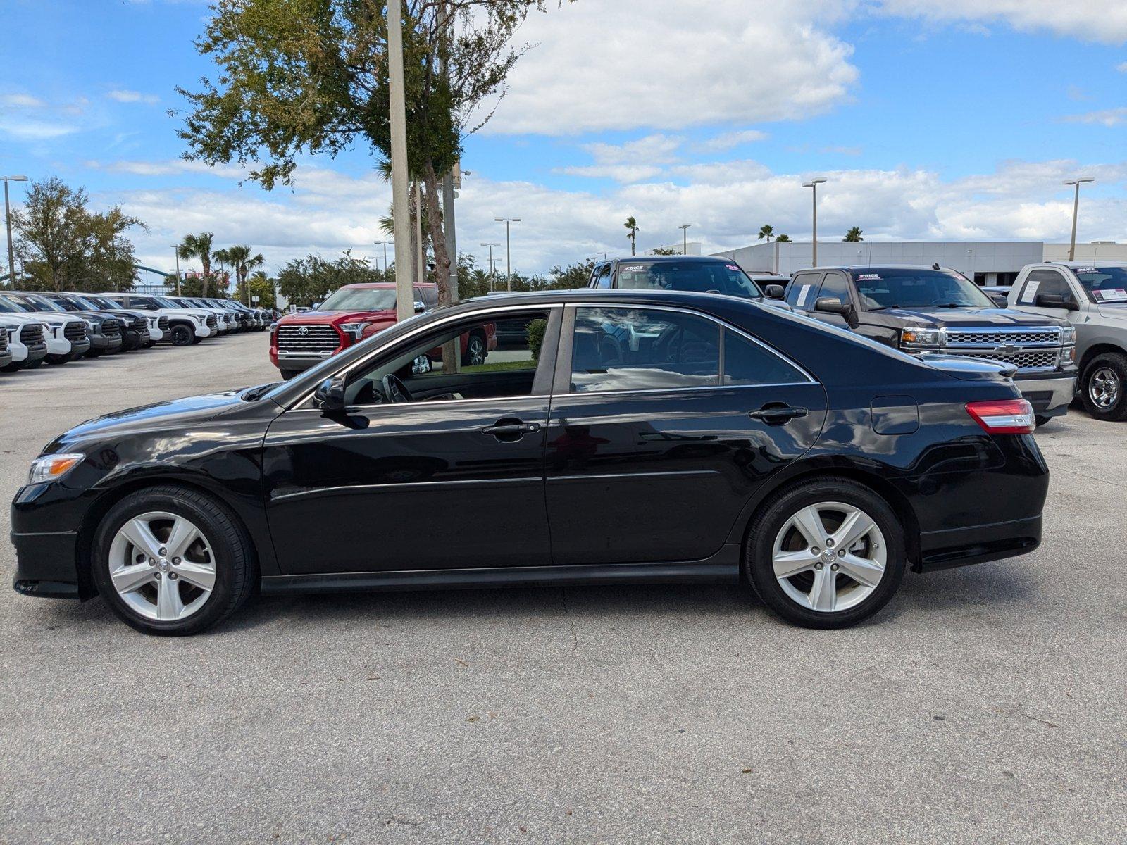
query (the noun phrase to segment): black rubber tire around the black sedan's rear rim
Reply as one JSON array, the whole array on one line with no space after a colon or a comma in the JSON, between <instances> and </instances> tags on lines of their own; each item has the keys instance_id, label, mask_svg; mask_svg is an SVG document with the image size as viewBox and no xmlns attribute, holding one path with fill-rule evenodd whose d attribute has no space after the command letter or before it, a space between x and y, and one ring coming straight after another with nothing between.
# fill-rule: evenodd
<instances>
[{"instance_id":1,"label":"black rubber tire around the black sedan's rear rim","mask_svg":"<svg viewBox=\"0 0 1127 845\"><path fill-rule=\"evenodd\" d=\"M815 611L800 605L779 584L772 563L775 537L787 522L802 508L820 502L843 502L860 508L885 537L885 571L879 584L867 598L844 611ZM863 484L837 477L799 482L772 496L770 504L752 521L744 548L745 573L760 599L788 622L802 628L848 628L877 613L899 588L907 563L904 530L888 502ZM836 579L842 577L840 573Z\"/></svg>"}]
</instances>

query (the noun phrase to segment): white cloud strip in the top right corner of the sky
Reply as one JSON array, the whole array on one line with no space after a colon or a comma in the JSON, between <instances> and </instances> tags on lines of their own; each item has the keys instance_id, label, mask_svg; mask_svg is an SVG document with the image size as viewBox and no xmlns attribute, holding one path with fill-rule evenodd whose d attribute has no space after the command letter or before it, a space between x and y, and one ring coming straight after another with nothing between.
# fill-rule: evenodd
<instances>
[{"instance_id":1,"label":"white cloud strip in the top right corner of the sky","mask_svg":"<svg viewBox=\"0 0 1127 845\"><path fill-rule=\"evenodd\" d=\"M1127 42L1127 3L1121 0L880 0L879 8L933 23L1008 24L1026 32L1047 30L1085 41Z\"/></svg>"}]
</instances>

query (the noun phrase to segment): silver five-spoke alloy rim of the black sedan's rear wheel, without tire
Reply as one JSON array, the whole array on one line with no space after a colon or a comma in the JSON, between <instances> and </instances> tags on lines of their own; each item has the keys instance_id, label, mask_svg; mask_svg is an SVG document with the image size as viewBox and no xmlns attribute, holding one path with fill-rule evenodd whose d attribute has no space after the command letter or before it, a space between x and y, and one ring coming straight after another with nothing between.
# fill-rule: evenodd
<instances>
[{"instance_id":1,"label":"silver five-spoke alloy rim of the black sedan's rear wheel, without tire","mask_svg":"<svg viewBox=\"0 0 1127 845\"><path fill-rule=\"evenodd\" d=\"M888 545L872 517L842 501L819 501L775 535L775 580L799 606L819 613L855 607L885 577Z\"/></svg>"}]
</instances>

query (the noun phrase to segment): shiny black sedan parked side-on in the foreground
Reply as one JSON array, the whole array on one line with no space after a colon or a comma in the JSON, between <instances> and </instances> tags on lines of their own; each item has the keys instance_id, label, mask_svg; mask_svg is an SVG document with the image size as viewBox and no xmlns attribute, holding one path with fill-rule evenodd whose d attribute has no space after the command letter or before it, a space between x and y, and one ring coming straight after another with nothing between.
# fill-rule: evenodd
<instances>
[{"instance_id":1,"label":"shiny black sedan parked side-on in the foreground","mask_svg":"<svg viewBox=\"0 0 1127 845\"><path fill-rule=\"evenodd\" d=\"M458 372L434 355L515 320L534 348ZM256 590L747 581L840 628L908 568L1038 545L1032 430L1001 365L757 301L488 297L290 382L66 432L12 502L15 587L187 634Z\"/></svg>"}]
</instances>

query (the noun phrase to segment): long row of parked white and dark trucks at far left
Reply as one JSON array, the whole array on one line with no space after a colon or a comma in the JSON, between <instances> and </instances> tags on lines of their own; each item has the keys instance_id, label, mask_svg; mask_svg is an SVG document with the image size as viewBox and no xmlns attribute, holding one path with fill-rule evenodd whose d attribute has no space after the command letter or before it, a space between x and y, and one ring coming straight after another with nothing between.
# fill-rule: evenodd
<instances>
[{"instance_id":1,"label":"long row of parked white and dark trucks at far left","mask_svg":"<svg viewBox=\"0 0 1127 845\"><path fill-rule=\"evenodd\" d=\"M192 346L236 331L264 331L274 319L267 309L214 297L0 290L0 372L161 341Z\"/></svg>"}]
</instances>

